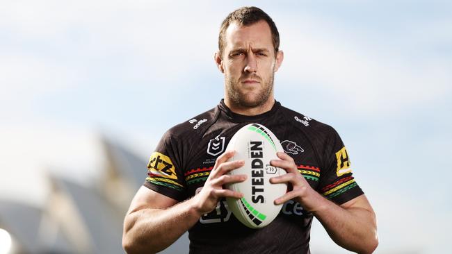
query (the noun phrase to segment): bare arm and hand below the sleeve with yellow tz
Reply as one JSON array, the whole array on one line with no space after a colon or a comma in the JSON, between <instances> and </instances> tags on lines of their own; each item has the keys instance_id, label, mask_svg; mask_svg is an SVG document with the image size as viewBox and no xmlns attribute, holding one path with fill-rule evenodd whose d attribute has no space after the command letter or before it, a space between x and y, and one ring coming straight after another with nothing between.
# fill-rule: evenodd
<instances>
[{"instance_id":1,"label":"bare arm and hand below the sleeve with yellow tz","mask_svg":"<svg viewBox=\"0 0 452 254\"><path fill-rule=\"evenodd\" d=\"M241 198L243 194L223 189L227 183L242 182L246 178L227 175L243 166L243 161L227 162L233 155L233 151L220 155L201 192L187 201L177 203L175 199L141 187L124 219L124 250L127 253L162 251L195 225L202 214L211 212L220 198Z\"/></svg>"}]
</instances>

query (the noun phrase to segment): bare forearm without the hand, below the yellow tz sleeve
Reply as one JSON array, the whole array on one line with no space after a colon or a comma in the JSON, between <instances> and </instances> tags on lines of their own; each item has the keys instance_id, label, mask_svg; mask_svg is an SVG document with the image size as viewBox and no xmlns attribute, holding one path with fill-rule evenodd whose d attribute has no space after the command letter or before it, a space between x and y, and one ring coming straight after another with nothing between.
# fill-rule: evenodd
<instances>
[{"instance_id":1,"label":"bare forearm without the hand, below the yellow tz sleeve","mask_svg":"<svg viewBox=\"0 0 452 254\"><path fill-rule=\"evenodd\" d=\"M175 242L200 219L193 200L177 203L142 186L124 219L122 245L127 253L156 253Z\"/></svg>"}]
</instances>

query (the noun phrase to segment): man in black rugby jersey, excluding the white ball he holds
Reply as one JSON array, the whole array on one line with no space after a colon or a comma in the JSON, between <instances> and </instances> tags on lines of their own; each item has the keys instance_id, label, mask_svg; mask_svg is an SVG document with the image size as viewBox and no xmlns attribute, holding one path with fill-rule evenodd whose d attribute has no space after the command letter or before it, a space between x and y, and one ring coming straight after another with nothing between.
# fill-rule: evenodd
<instances>
[{"instance_id":1,"label":"man in black rugby jersey, excluding the white ball he holds","mask_svg":"<svg viewBox=\"0 0 452 254\"><path fill-rule=\"evenodd\" d=\"M272 19L259 8L240 8L223 21L215 55L225 75L225 99L163 135L148 164L148 177L131 202L122 243L127 253L155 253L188 230L191 253L310 253L315 216L340 246L372 253L378 245L376 217L353 179L344 144L333 128L284 108L273 96L273 76L283 53ZM227 209L223 188L245 176L227 172L243 161L224 151L239 128L263 124L286 153L271 164L287 171L271 183L289 192L284 206L261 229L243 226Z\"/></svg>"}]
</instances>

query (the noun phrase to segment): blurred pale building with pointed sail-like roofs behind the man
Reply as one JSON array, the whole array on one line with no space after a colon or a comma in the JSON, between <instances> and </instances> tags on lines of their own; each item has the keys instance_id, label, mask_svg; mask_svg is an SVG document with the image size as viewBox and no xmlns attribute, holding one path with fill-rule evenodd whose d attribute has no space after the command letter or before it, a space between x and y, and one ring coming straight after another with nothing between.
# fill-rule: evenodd
<instances>
[{"instance_id":1,"label":"blurred pale building with pointed sail-like roofs behind the man","mask_svg":"<svg viewBox=\"0 0 452 254\"><path fill-rule=\"evenodd\" d=\"M51 192L42 208L0 200L0 228L11 238L6 253L124 253L122 222L145 180L146 162L111 140L101 142L106 156L101 181L82 186L49 175ZM187 252L184 235L162 253Z\"/></svg>"}]
</instances>

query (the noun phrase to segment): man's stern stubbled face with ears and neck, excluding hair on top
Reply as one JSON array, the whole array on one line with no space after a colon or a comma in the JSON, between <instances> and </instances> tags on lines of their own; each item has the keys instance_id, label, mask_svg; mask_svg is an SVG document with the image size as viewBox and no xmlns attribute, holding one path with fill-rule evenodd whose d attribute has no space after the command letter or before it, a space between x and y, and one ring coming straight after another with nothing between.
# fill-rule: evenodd
<instances>
[{"instance_id":1,"label":"man's stern stubbled face with ears and neck, excluding hair on top","mask_svg":"<svg viewBox=\"0 0 452 254\"><path fill-rule=\"evenodd\" d=\"M282 62L270 26L262 20L250 26L230 24L225 33L223 56L216 56L225 74L225 100L241 109L273 105L273 76Z\"/></svg>"}]
</instances>

